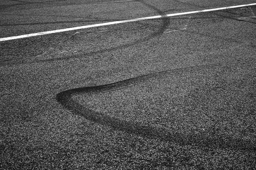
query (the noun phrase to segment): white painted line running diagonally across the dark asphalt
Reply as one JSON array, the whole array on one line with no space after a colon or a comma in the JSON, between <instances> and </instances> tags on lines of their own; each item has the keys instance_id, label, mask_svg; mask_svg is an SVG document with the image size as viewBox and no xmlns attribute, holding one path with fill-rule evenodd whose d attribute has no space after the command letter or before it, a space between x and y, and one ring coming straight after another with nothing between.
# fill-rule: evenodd
<instances>
[{"instance_id":1,"label":"white painted line running diagonally across the dark asphalt","mask_svg":"<svg viewBox=\"0 0 256 170\"><path fill-rule=\"evenodd\" d=\"M93 25L88 25L88 26L79 26L79 27L73 27L73 28L65 28L65 29L58 29L58 30L53 30L53 31L44 31L44 32L38 32L38 33L33 33L33 34L25 34L25 35L13 36L13 37L0 38L0 41L15 40L15 39L19 39L19 38L34 37L34 36L46 35L46 34L54 34L54 33L73 31L73 30L84 29L84 28L108 26L108 25L119 24L119 23L135 22L135 21L140 21L140 20L150 20L150 19L155 19L155 18L172 17L172 16L177 16L177 15L195 14L195 13L209 12L209 11L218 11L218 10L240 8L240 7L244 7L244 6L254 6L254 5L256 5L256 3L244 4L244 5L239 5L239 6L227 6L227 7L222 7L222 8L204 9L204 10L199 10L199 11L181 12L181 13L176 13L176 14L157 15L157 16L152 16L152 17L135 18L135 19L130 19L130 20L114 21L114 22L109 22L109 23L100 23L100 24L93 24Z\"/></svg>"}]
</instances>

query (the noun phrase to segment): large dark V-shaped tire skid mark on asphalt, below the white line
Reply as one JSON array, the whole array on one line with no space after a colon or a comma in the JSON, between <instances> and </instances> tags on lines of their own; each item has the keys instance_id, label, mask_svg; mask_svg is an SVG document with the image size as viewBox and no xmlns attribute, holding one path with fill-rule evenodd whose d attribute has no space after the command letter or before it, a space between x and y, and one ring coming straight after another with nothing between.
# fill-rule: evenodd
<instances>
[{"instance_id":1,"label":"large dark V-shaped tire skid mark on asphalt, below the white line","mask_svg":"<svg viewBox=\"0 0 256 170\"><path fill-rule=\"evenodd\" d=\"M157 139L167 142L176 142L181 145L193 144L204 147L220 147L220 148L237 148L242 150L255 149L252 148L253 145L251 141L233 139L233 137L223 136L215 132L210 132L209 134L204 133L190 133L190 134L181 134L176 132L174 129L168 130L165 127L153 126L148 124L143 124L139 122L127 121L123 119L118 119L113 116L104 115L98 111L93 111L88 108L86 105L82 105L79 102L76 102L72 96L79 94L99 94L104 91L122 91L129 86L140 85L141 83L147 82L150 79L157 77L164 77L166 75L172 75L173 77L182 77L182 75L187 75L189 73L205 71L207 68L214 69L219 64L211 65L199 65L191 66L187 68L178 68L174 70L162 71L159 73L146 74L143 76L138 76L130 79L126 79L119 82L114 82L107 85L99 85L92 87L81 87L74 88L67 91L62 91L56 95L56 101L60 103L65 109L70 111L73 114L83 116L84 118L99 123L101 125L107 125L113 130L125 131L126 133L135 134L138 136ZM211 134L212 133L212 134Z\"/></svg>"}]
</instances>

